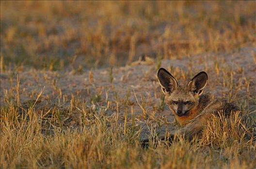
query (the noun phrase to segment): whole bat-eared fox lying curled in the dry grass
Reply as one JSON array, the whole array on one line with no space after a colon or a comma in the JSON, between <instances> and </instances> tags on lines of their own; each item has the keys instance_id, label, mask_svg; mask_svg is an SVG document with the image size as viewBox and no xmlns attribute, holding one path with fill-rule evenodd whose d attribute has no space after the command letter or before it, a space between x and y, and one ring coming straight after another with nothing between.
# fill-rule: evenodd
<instances>
[{"instance_id":1,"label":"whole bat-eared fox lying curled in the dry grass","mask_svg":"<svg viewBox=\"0 0 256 169\"><path fill-rule=\"evenodd\" d=\"M225 115L230 115L231 111L239 110L234 103L224 99L213 100L210 95L203 94L208 82L208 75L204 71L196 74L188 84L179 85L171 73L160 68L158 81L166 104L181 126L176 133L184 134L185 138L192 138L201 131L212 113L223 110Z\"/></svg>"}]
</instances>

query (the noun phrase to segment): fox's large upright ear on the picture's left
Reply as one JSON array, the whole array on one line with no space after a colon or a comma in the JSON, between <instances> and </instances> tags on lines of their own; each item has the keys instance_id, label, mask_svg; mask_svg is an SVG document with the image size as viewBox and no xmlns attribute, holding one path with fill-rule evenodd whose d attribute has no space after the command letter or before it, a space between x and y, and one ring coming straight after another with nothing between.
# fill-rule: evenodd
<instances>
[{"instance_id":1,"label":"fox's large upright ear on the picture's left","mask_svg":"<svg viewBox=\"0 0 256 169\"><path fill-rule=\"evenodd\" d=\"M178 83L173 75L163 68L158 70L158 82L165 95L172 93L178 87Z\"/></svg>"}]
</instances>

